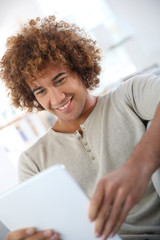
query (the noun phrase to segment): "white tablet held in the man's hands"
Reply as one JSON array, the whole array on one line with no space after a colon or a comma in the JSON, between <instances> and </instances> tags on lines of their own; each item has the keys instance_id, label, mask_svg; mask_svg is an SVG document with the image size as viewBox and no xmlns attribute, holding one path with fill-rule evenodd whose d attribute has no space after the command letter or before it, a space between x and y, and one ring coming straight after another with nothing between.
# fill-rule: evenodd
<instances>
[{"instance_id":1,"label":"white tablet held in the man's hands","mask_svg":"<svg viewBox=\"0 0 160 240\"><path fill-rule=\"evenodd\" d=\"M56 165L0 195L0 221L11 231L36 227L54 229L63 240L95 240L88 205L65 167Z\"/></svg>"}]
</instances>

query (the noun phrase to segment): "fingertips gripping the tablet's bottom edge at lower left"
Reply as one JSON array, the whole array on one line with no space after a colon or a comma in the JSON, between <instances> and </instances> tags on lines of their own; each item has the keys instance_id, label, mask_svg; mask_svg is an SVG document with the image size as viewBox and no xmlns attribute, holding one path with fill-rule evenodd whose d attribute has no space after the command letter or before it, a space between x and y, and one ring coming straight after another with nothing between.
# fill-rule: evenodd
<instances>
[{"instance_id":1,"label":"fingertips gripping the tablet's bottom edge at lower left","mask_svg":"<svg viewBox=\"0 0 160 240\"><path fill-rule=\"evenodd\" d=\"M52 230L37 232L34 228L20 229L10 232L6 240L60 240L59 234Z\"/></svg>"}]
</instances>

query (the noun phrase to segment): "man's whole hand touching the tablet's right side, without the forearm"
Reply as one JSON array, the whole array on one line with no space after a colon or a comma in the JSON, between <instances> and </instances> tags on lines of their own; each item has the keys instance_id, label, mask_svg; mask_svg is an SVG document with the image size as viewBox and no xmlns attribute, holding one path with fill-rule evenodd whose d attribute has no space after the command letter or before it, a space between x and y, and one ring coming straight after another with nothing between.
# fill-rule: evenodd
<instances>
[{"instance_id":1,"label":"man's whole hand touching the tablet's right side, without the forearm","mask_svg":"<svg viewBox=\"0 0 160 240\"><path fill-rule=\"evenodd\" d=\"M143 197L149 180L139 165L127 162L99 181L89 207L95 236L107 239L119 230L130 209Z\"/></svg>"}]
</instances>

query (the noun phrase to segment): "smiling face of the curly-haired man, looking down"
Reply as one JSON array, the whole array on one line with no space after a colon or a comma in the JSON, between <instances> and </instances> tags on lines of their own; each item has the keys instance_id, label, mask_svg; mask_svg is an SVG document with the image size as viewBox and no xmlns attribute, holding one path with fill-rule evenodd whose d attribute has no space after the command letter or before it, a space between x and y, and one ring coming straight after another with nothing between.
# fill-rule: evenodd
<instances>
[{"instance_id":1,"label":"smiling face of the curly-haired man, looking down","mask_svg":"<svg viewBox=\"0 0 160 240\"><path fill-rule=\"evenodd\" d=\"M44 74L27 84L37 101L61 121L73 121L87 109L90 95L80 76L65 67L48 64Z\"/></svg>"}]
</instances>

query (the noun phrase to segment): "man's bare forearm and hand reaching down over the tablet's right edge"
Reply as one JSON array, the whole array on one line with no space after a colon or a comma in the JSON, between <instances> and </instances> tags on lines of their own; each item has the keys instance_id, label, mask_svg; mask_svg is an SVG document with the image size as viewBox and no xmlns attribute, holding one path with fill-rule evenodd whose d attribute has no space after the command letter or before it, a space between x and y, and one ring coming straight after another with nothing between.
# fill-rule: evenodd
<instances>
[{"instance_id":1,"label":"man's bare forearm and hand reaching down over the tablet's right edge","mask_svg":"<svg viewBox=\"0 0 160 240\"><path fill-rule=\"evenodd\" d=\"M95 221L95 235L114 235L130 209L138 203L152 174L160 167L160 103L151 126L128 161L104 176L90 201L89 218Z\"/></svg>"}]
</instances>

